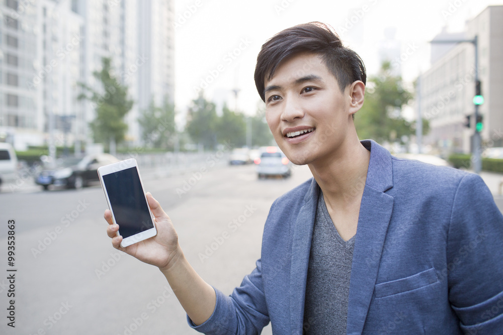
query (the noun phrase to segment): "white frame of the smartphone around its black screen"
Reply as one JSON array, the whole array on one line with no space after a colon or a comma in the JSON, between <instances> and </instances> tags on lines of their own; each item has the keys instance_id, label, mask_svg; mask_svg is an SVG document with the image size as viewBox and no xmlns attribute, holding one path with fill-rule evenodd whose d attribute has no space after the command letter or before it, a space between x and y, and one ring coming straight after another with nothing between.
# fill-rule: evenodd
<instances>
[{"instance_id":1,"label":"white frame of the smartphone around its black screen","mask_svg":"<svg viewBox=\"0 0 503 335\"><path fill-rule=\"evenodd\" d=\"M130 159L126 159L126 160L123 160L123 161L120 161L117 163L112 163L109 165L101 166L98 168L98 176L100 177L100 183L101 183L103 192L105 193L105 198L107 199L108 208L112 212L112 220L113 220L114 224L117 224L117 222L115 220L114 210L112 209L112 205L110 204L110 199L108 197L107 187L105 186L105 182L103 181L103 176L110 174L110 173L118 172L121 170L129 169L132 167L135 167L136 171L138 172L138 177L140 179L140 185L141 185L141 189L143 191L143 196L145 197L145 202L147 203L148 212L150 214L150 218L152 219L152 224L154 227L149 230L146 230L146 231L140 232L138 234L135 234L133 236L130 236L128 238L124 238L121 242L122 248L126 248L127 246L130 246L132 244L135 244L137 242L146 240L148 238L151 238L151 237L154 237L155 235L157 235L157 229L155 228L154 216L152 214L152 211L150 210L150 206L148 205L147 195L145 194L145 189L143 187L143 181L141 180L140 170L138 169L138 164L136 163L136 159L130 158ZM119 231L120 231L120 227L119 227ZM117 231L117 236L120 236L119 231Z\"/></svg>"}]
</instances>

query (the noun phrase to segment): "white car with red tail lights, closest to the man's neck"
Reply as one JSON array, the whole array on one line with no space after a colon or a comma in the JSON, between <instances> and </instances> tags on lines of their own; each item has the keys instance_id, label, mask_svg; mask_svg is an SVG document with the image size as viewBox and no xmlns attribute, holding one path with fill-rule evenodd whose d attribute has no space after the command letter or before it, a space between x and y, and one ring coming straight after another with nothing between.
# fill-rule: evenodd
<instances>
[{"instance_id":1,"label":"white car with red tail lights, closest to the man's neck","mask_svg":"<svg viewBox=\"0 0 503 335\"><path fill-rule=\"evenodd\" d=\"M260 157L255 159L255 164L259 178L290 177L292 174L292 163L278 147L267 147Z\"/></svg>"}]
</instances>

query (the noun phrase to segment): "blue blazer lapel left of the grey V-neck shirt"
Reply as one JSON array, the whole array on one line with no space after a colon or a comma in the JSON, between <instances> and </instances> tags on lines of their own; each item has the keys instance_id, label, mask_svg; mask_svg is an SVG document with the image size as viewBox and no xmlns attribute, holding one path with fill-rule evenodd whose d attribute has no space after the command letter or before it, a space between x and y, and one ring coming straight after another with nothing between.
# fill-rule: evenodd
<instances>
[{"instance_id":1,"label":"blue blazer lapel left of the grey V-neck shirt","mask_svg":"<svg viewBox=\"0 0 503 335\"><path fill-rule=\"evenodd\" d=\"M290 325L292 334L302 334L307 269L318 201L318 184L312 180L294 226L290 268Z\"/></svg>"}]
</instances>

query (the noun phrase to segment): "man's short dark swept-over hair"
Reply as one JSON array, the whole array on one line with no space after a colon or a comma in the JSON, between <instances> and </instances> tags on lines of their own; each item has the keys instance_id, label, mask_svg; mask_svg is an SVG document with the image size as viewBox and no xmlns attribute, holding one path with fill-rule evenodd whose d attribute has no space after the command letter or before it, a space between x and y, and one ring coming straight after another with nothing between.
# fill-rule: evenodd
<instances>
[{"instance_id":1,"label":"man's short dark swept-over hair","mask_svg":"<svg viewBox=\"0 0 503 335\"><path fill-rule=\"evenodd\" d=\"M312 52L321 56L343 92L357 80L366 84L367 74L360 56L343 46L331 27L321 22L310 22L287 28L262 45L255 66L255 85L263 101L266 77L271 80L281 61L301 52Z\"/></svg>"}]
</instances>

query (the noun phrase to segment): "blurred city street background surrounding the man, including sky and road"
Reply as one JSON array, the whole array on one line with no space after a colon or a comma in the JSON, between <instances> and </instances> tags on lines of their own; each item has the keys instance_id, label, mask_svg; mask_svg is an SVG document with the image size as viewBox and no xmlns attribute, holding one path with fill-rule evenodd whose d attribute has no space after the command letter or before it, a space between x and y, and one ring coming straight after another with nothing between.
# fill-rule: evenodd
<instances>
[{"instance_id":1,"label":"blurred city street background surrounding the man, including sky and road","mask_svg":"<svg viewBox=\"0 0 503 335\"><path fill-rule=\"evenodd\" d=\"M271 203L310 177L275 147L253 80L261 45L300 23L364 60L361 139L477 172L503 207L503 1L0 0L0 19L0 271L9 219L18 269L1 333L194 333L158 271L111 247L96 169L136 158L230 294Z\"/></svg>"}]
</instances>

